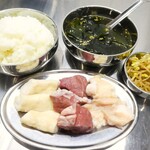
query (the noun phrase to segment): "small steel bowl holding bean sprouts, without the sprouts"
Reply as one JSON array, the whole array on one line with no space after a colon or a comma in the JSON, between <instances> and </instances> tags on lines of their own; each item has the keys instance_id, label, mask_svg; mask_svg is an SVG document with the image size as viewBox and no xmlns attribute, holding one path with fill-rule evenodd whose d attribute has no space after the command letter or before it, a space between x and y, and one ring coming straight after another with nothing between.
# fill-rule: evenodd
<instances>
[{"instance_id":1,"label":"small steel bowl holding bean sprouts, without the sprouts","mask_svg":"<svg viewBox=\"0 0 150 150\"><path fill-rule=\"evenodd\" d=\"M124 83L127 85L127 87L131 91L133 91L136 95L138 95L142 98L150 99L150 92L146 92L146 91L142 90L141 88L139 88L138 86L136 86L135 83L131 80L131 78L129 77L129 75L127 73L126 65L127 65L127 62L129 61L129 59L135 55L141 55L141 54L146 54L146 52L134 53L126 59L124 65L122 67L121 76L122 76Z\"/></svg>"}]
</instances>

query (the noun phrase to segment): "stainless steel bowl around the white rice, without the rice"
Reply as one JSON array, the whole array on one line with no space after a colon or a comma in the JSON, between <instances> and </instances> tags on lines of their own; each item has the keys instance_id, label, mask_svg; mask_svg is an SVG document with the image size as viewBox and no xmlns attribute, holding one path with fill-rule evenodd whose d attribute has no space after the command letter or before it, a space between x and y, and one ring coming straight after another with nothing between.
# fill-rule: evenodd
<instances>
[{"instance_id":1,"label":"stainless steel bowl around the white rice, without the rice","mask_svg":"<svg viewBox=\"0 0 150 150\"><path fill-rule=\"evenodd\" d=\"M58 47L58 31L57 26L54 21L43 12L28 9L28 8L12 8L0 11L0 18L5 16L31 16L38 19L42 24L44 24L53 34L54 36L54 45L50 48L43 56L39 58L29 61L24 64L18 65L3 65L0 64L0 73L11 75L11 76L21 76L27 75L34 72L37 72L41 68L43 68L55 54ZM18 62L19 63L19 62Z\"/></svg>"}]
</instances>

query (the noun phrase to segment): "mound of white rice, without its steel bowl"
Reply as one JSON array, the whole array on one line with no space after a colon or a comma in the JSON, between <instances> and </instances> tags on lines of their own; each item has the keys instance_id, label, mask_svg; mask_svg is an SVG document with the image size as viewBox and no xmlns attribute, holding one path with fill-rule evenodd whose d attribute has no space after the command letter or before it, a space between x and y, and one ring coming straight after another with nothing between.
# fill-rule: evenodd
<instances>
[{"instance_id":1,"label":"mound of white rice, without its steel bowl","mask_svg":"<svg viewBox=\"0 0 150 150\"><path fill-rule=\"evenodd\" d=\"M50 30L30 16L0 19L0 62L21 64L45 54L53 45Z\"/></svg>"}]
</instances>

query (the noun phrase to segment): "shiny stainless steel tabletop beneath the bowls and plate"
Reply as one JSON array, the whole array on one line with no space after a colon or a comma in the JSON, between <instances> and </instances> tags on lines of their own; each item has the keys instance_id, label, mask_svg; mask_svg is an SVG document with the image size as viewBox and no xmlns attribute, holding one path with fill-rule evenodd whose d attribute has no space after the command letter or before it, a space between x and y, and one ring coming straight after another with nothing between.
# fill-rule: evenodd
<instances>
[{"instance_id":1,"label":"shiny stainless steel tabletop beneath the bowls and plate","mask_svg":"<svg viewBox=\"0 0 150 150\"><path fill-rule=\"evenodd\" d=\"M85 6L85 5L101 5L114 8L119 11L125 10L129 7L135 0L0 0L0 9L22 7L22 8L33 8L40 10L48 14L54 19L58 26L58 34L60 37L58 49L53 57L53 59L48 63L44 70L60 69L60 68L79 68L93 70L91 67L86 67L82 63L79 65L76 62L72 63L72 58L69 57L71 64L68 64L68 59L66 55L66 47L62 42L61 32L62 32L62 21L67 13L71 10ZM138 9L136 9L129 18L134 22L138 29L138 42L135 47L134 52L145 51L150 52L150 3L144 3ZM120 67L119 67L120 68ZM116 68L115 73L112 77L117 78L122 82L121 75L117 73L119 68ZM26 78L26 77L22 77ZM0 74L0 99L4 96L6 91L18 81L21 81L20 77L11 77L4 74ZM135 95L136 101L138 103L139 118L137 125L133 131L120 142L116 143L107 150L149 150L150 149L150 101L144 100ZM28 150L22 145L18 144L11 135L6 131L0 122L0 149L1 150Z\"/></svg>"}]
</instances>

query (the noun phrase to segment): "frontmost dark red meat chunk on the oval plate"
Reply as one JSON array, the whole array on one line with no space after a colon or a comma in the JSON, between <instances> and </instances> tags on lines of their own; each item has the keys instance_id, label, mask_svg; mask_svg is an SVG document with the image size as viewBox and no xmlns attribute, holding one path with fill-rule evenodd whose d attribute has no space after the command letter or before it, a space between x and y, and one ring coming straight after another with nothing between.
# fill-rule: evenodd
<instances>
[{"instance_id":1,"label":"frontmost dark red meat chunk on the oval plate","mask_svg":"<svg viewBox=\"0 0 150 150\"><path fill-rule=\"evenodd\" d=\"M72 105L61 112L58 127L74 134L89 133L93 130L92 116L88 109Z\"/></svg>"}]
</instances>

